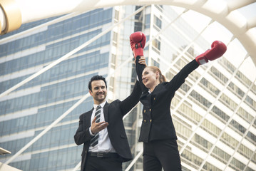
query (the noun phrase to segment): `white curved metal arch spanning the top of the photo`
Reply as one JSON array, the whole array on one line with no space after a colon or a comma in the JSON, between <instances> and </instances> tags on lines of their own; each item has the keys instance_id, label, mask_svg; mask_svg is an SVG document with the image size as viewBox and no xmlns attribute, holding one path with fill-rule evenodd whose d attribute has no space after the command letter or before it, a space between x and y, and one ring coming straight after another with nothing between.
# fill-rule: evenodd
<instances>
[{"instance_id":1,"label":"white curved metal arch spanning the top of the photo","mask_svg":"<svg viewBox=\"0 0 256 171\"><path fill-rule=\"evenodd\" d=\"M256 65L256 29L254 28L256 17L246 19L237 11L255 2L256 0L1 0L0 30L12 31L14 28L11 26L14 23L25 24L74 11L88 11L109 6L149 4L180 6L198 11L225 26L242 43ZM19 9L10 6L19 6ZM17 20L14 14L21 14L20 22L11 22Z\"/></svg>"}]
</instances>

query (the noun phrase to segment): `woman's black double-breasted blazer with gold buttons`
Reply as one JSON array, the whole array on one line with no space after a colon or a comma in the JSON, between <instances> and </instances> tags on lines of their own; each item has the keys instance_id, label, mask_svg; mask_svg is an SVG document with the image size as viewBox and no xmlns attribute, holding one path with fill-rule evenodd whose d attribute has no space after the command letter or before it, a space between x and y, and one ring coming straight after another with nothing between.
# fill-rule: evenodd
<instances>
[{"instance_id":1,"label":"woman's black double-breasted blazer with gold buttons","mask_svg":"<svg viewBox=\"0 0 256 171\"><path fill-rule=\"evenodd\" d=\"M144 86L143 94L140 97L140 102L143 103L140 142L177 139L173 120L170 115L170 103L175 95L175 91L180 88L185 82L185 78L198 68L198 66L195 60L191 61L170 82L158 84L152 93L148 93L148 88ZM141 78L139 80L142 81Z\"/></svg>"}]
</instances>

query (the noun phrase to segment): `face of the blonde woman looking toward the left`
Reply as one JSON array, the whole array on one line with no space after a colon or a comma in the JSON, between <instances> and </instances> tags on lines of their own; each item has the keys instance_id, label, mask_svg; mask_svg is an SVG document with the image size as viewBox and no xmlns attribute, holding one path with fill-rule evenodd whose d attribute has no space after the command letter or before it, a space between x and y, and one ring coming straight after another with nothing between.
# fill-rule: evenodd
<instances>
[{"instance_id":1,"label":"face of the blonde woman looking toward the left","mask_svg":"<svg viewBox=\"0 0 256 171\"><path fill-rule=\"evenodd\" d=\"M142 73L143 84L146 88L152 88L158 80L158 72L153 72L150 68L145 68Z\"/></svg>"}]
</instances>

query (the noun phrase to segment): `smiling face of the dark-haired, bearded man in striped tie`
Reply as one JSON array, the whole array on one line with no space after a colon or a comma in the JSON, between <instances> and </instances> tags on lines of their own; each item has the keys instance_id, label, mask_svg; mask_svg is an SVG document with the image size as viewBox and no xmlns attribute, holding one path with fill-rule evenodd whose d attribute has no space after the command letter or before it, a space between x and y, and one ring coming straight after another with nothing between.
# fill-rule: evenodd
<instances>
[{"instance_id":1,"label":"smiling face of the dark-haired, bearded man in striped tie","mask_svg":"<svg viewBox=\"0 0 256 171\"><path fill-rule=\"evenodd\" d=\"M103 80L92 81L91 90L89 90L91 96L93 96L94 103L99 105L103 103L107 96L106 84Z\"/></svg>"}]
</instances>

